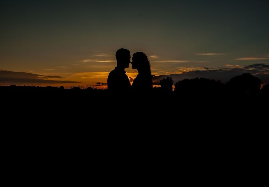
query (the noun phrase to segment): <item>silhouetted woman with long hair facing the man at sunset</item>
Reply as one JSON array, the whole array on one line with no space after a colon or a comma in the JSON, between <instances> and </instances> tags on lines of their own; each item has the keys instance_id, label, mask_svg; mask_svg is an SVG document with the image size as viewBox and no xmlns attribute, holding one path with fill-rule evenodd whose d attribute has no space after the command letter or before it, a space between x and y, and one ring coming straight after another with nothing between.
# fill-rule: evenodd
<instances>
[{"instance_id":1,"label":"silhouetted woman with long hair facing the man at sunset","mask_svg":"<svg viewBox=\"0 0 269 187\"><path fill-rule=\"evenodd\" d=\"M140 93L151 91L153 84L147 55L143 52L134 53L131 65L133 69L137 69L138 71L131 90Z\"/></svg>"}]
</instances>

